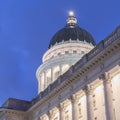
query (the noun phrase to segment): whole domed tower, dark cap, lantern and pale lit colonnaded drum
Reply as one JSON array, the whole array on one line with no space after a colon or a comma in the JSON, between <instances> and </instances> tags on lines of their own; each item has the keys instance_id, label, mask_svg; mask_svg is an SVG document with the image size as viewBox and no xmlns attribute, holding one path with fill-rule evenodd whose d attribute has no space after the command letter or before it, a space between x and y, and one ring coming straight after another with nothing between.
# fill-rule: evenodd
<instances>
[{"instance_id":1,"label":"whole domed tower, dark cap, lantern and pale lit colonnaded drum","mask_svg":"<svg viewBox=\"0 0 120 120\"><path fill-rule=\"evenodd\" d=\"M66 26L53 36L43 55L43 63L37 69L38 93L59 79L94 46L91 34L78 26L74 13L70 12Z\"/></svg>"}]
</instances>

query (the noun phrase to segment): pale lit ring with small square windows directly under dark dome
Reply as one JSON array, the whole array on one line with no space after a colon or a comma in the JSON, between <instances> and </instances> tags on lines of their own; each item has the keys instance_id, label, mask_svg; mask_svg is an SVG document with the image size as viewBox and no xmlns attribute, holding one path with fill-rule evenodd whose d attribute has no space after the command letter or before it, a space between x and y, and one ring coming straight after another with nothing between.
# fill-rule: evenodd
<instances>
[{"instance_id":1,"label":"pale lit ring with small square windows directly under dark dome","mask_svg":"<svg viewBox=\"0 0 120 120\"><path fill-rule=\"evenodd\" d=\"M60 45L56 45L48 51L43 56L43 62L53 59L57 56L65 56L68 54L77 54L78 56L88 53L93 49L93 45L87 44L86 42L69 42ZM81 57L79 57L80 59Z\"/></svg>"}]
</instances>

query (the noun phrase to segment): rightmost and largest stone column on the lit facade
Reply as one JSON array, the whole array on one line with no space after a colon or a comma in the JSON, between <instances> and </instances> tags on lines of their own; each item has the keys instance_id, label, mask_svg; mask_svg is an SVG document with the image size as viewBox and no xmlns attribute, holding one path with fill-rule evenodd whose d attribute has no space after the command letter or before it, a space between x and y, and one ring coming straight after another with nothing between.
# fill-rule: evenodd
<instances>
[{"instance_id":1,"label":"rightmost and largest stone column on the lit facade","mask_svg":"<svg viewBox=\"0 0 120 120\"><path fill-rule=\"evenodd\" d=\"M104 86L106 120L114 120L113 93L109 73L102 74L100 80L103 81Z\"/></svg>"}]
</instances>

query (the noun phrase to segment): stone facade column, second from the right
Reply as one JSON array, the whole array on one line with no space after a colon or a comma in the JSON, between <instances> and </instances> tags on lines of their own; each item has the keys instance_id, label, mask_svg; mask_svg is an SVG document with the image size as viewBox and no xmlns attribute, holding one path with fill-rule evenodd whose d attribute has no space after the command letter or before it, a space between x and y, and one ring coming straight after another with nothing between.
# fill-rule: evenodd
<instances>
[{"instance_id":1,"label":"stone facade column, second from the right","mask_svg":"<svg viewBox=\"0 0 120 120\"><path fill-rule=\"evenodd\" d=\"M94 110L93 110L93 86L87 85L85 87L86 93L86 104L87 104L87 119L94 120Z\"/></svg>"}]
</instances>

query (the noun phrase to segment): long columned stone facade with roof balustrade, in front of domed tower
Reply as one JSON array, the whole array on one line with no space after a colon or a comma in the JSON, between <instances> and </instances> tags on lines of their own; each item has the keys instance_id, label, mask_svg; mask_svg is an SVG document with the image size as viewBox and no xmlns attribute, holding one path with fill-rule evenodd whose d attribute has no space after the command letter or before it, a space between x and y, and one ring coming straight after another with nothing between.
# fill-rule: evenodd
<instances>
[{"instance_id":1,"label":"long columned stone facade with roof balustrade, in front of domed tower","mask_svg":"<svg viewBox=\"0 0 120 120\"><path fill-rule=\"evenodd\" d=\"M39 105L29 109L36 110L32 120L119 120L119 30L72 66L58 84L53 83L54 90L44 91L44 98L39 94Z\"/></svg>"}]
</instances>

